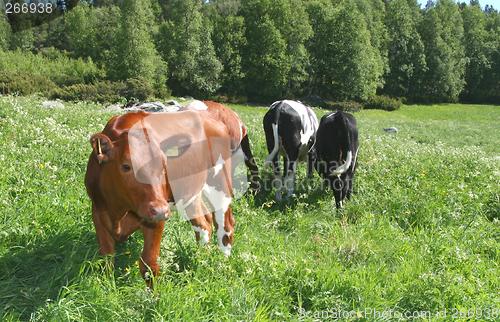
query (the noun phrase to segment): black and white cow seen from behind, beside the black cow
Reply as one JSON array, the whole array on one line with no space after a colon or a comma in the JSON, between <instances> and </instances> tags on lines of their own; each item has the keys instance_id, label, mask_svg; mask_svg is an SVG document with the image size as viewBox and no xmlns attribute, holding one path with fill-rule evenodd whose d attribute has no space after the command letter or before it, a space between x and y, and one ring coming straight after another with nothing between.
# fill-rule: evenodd
<instances>
[{"instance_id":1,"label":"black and white cow seen from behind, beside the black cow","mask_svg":"<svg viewBox=\"0 0 500 322\"><path fill-rule=\"evenodd\" d=\"M266 164L272 164L275 179L279 180L276 199L281 199L283 187L287 196L295 188L297 162L308 157L308 175L312 175L314 153L312 147L318 130L318 118L311 108L291 100L271 104L264 116L264 132L269 155ZM283 176L281 177L278 159L283 154Z\"/></svg>"}]
</instances>

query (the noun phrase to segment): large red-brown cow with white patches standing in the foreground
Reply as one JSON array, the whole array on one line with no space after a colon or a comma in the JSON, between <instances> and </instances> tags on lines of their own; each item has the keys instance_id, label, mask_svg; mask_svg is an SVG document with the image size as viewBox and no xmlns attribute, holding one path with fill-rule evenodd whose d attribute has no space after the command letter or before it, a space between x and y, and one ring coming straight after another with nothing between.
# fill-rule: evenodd
<instances>
[{"instance_id":1,"label":"large red-brown cow with white patches standing in the foreground","mask_svg":"<svg viewBox=\"0 0 500 322\"><path fill-rule=\"evenodd\" d=\"M151 285L148 272L159 272L164 220L175 202L203 243L210 239L213 212L219 247L229 255L234 239L230 132L216 118L194 111L111 118L90 139L85 176L100 253L114 253L115 242L141 229L140 270Z\"/></svg>"}]
</instances>

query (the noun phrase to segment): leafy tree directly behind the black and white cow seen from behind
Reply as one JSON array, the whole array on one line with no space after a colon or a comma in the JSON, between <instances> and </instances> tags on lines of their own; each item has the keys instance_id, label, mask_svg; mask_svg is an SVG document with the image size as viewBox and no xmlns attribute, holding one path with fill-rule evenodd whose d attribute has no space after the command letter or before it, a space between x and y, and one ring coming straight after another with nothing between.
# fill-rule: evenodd
<instances>
[{"instance_id":1,"label":"leafy tree directly behind the black and white cow seen from behind","mask_svg":"<svg viewBox=\"0 0 500 322\"><path fill-rule=\"evenodd\" d=\"M298 95L308 78L305 44L312 28L301 1L249 0L242 4L247 46L247 93L264 100Z\"/></svg>"}]
</instances>

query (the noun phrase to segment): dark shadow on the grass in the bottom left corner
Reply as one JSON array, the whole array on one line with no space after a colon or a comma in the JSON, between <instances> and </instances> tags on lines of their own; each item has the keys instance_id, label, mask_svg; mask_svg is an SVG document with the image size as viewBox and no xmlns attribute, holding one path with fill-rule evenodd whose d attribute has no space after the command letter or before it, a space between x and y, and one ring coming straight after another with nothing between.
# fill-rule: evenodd
<instances>
[{"instance_id":1,"label":"dark shadow on the grass in the bottom left corner","mask_svg":"<svg viewBox=\"0 0 500 322\"><path fill-rule=\"evenodd\" d=\"M0 258L0 316L28 319L47 300L55 299L79 275L81 265L96 256L96 244L91 231L68 231L11 247Z\"/></svg>"}]
</instances>

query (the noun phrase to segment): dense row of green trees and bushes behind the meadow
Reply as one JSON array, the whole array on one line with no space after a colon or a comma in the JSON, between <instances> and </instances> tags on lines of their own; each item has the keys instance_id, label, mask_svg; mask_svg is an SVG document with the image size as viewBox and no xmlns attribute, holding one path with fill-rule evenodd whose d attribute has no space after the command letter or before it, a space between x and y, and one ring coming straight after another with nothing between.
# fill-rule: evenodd
<instances>
[{"instance_id":1,"label":"dense row of green trees and bushes behind the meadow","mask_svg":"<svg viewBox=\"0 0 500 322\"><path fill-rule=\"evenodd\" d=\"M476 0L67 2L0 12L0 93L500 103L500 14Z\"/></svg>"}]
</instances>

